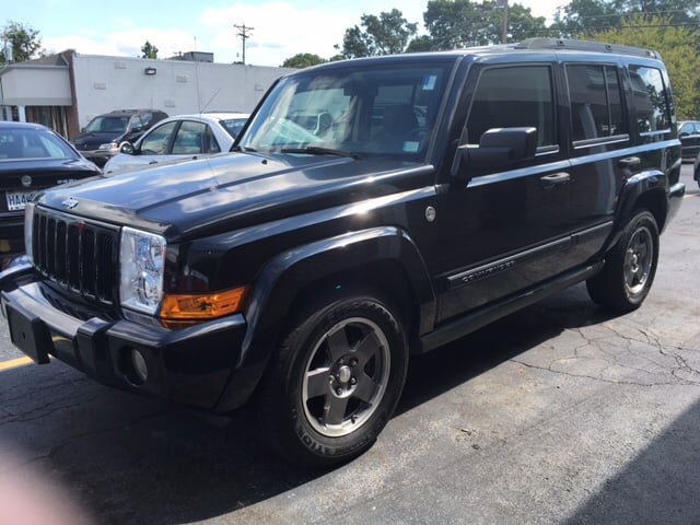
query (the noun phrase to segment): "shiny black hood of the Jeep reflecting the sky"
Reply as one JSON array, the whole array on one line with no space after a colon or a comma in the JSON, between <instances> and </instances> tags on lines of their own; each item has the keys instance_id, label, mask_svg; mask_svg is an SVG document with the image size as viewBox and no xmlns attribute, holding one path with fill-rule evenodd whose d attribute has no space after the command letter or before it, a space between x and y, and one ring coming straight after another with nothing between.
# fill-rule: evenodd
<instances>
[{"instance_id":1,"label":"shiny black hood of the Jeep reflecting the sky","mask_svg":"<svg viewBox=\"0 0 700 525\"><path fill-rule=\"evenodd\" d=\"M383 195L394 175L417 167L402 161L224 153L55 188L39 202L67 211L70 199L70 213L177 240Z\"/></svg>"}]
</instances>

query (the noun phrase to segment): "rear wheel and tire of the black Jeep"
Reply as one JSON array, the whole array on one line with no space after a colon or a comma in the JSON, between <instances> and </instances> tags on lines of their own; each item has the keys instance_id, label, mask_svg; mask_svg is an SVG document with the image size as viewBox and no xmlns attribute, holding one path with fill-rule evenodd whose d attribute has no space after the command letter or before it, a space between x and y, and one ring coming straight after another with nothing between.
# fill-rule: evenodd
<instances>
[{"instance_id":1,"label":"rear wheel and tire of the black Jeep","mask_svg":"<svg viewBox=\"0 0 700 525\"><path fill-rule=\"evenodd\" d=\"M586 281L588 294L600 306L630 312L651 290L658 261L658 228L649 211L639 211L606 255L600 273Z\"/></svg>"}]
</instances>

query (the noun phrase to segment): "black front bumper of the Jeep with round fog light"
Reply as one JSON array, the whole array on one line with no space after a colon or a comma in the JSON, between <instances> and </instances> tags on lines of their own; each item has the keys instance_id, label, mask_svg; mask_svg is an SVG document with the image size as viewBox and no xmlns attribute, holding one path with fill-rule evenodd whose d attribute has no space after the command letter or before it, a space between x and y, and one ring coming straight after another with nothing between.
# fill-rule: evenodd
<instances>
[{"instance_id":1,"label":"black front bumper of the Jeep with round fog light","mask_svg":"<svg viewBox=\"0 0 700 525\"><path fill-rule=\"evenodd\" d=\"M243 315L180 330L124 319L81 320L50 304L33 279L30 266L5 271L0 289L12 342L39 364L55 357L101 383L209 410L218 409L224 390L224 408L236 408L257 384L259 371L237 366ZM14 282L20 285L12 289ZM135 370L132 352L142 358L145 378Z\"/></svg>"}]
</instances>

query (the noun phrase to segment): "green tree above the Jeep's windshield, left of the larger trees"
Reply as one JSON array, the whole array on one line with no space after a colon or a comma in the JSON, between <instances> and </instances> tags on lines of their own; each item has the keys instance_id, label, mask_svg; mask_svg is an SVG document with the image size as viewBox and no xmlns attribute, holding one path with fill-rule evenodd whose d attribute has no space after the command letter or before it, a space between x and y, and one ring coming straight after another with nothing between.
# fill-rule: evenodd
<instances>
[{"instance_id":1,"label":"green tree above the Jeep's windshield, left of the larger trees","mask_svg":"<svg viewBox=\"0 0 700 525\"><path fill-rule=\"evenodd\" d=\"M349 27L342 39L340 55L343 58L372 57L404 52L408 42L418 31L418 24L408 22L398 9L378 16L363 14L363 28Z\"/></svg>"}]
</instances>

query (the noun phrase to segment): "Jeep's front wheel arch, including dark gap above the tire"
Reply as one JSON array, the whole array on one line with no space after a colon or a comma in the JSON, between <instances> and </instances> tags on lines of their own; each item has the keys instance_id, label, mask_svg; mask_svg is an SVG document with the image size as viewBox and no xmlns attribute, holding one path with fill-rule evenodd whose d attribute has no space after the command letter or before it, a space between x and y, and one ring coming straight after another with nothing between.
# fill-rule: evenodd
<instances>
[{"instance_id":1,"label":"Jeep's front wheel arch, including dark gap above the tire","mask_svg":"<svg viewBox=\"0 0 700 525\"><path fill-rule=\"evenodd\" d=\"M332 298L347 287L378 290L406 320L409 343L430 331L435 293L425 264L409 235L393 226L350 232L283 252L268 261L253 287L248 324L236 370L256 370L256 382L283 335L288 318L322 290ZM233 374L236 374L234 370ZM232 381L218 410L236 407ZM246 389L247 390L247 389Z\"/></svg>"}]
</instances>

